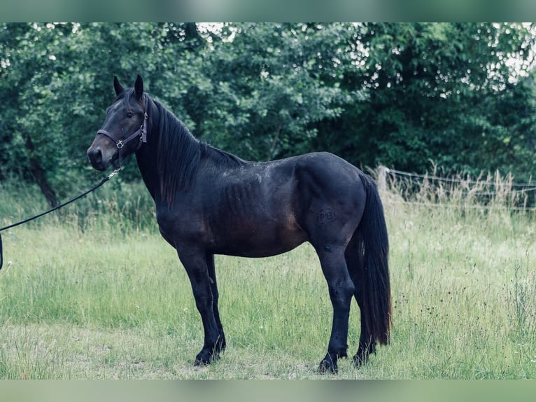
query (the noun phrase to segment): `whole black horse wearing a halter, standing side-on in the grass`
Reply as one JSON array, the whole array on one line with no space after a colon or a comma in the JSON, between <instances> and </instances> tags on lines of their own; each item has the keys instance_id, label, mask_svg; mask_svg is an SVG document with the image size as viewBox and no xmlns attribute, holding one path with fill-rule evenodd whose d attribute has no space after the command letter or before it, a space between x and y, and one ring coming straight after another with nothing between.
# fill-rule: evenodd
<instances>
[{"instance_id":1,"label":"whole black horse wearing a halter, standing side-on in the grass","mask_svg":"<svg viewBox=\"0 0 536 402\"><path fill-rule=\"evenodd\" d=\"M320 370L337 372L337 359L347 357L352 296L361 312L353 361L365 363L376 342L388 342L388 235L372 179L330 153L246 162L195 139L143 91L141 76L134 88L116 77L113 86L117 97L87 155L105 170L136 153L160 233L188 272L201 314L204 345L195 365L225 349L214 254L274 256L306 241L318 254L333 305Z\"/></svg>"}]
</instances>

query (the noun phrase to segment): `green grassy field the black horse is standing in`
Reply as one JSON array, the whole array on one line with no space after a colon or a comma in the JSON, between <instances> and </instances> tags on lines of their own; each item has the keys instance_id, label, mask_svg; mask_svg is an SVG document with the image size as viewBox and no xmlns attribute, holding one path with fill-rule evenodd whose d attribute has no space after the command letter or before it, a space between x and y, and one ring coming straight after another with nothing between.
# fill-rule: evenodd
<instances>
[{"instance_id":1,"label":"green grassy field the black horse is standing in","mask_svg":"<svg viewBox=\"0 0 536 402\"><path fill-rule=\"evenodd\" d=\"M111 182L2 233L0 379L535 378L535 212L509 209L508 188L484 202L464 186L422 183L407 196L399 184L382 193L392 340L363 368L343 360L338 375L316 372L331 305L309 245L216 258L227 350L193 367L202 326L188 278L146 191ZM45 209L37 193L0 188L0 226ZM353 355L355 302L350 324Z\"/></svg>"}]
</instances>

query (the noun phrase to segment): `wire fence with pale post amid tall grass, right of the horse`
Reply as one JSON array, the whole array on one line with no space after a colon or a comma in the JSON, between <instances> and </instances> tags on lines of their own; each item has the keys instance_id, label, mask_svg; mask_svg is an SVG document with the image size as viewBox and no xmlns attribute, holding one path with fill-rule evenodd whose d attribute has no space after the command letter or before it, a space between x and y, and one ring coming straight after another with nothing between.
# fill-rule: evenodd
<instances>
[{"instance_id":1,"label":"wire fence with pale post amid tall grass, right of the horse","mask_svg":"<svg viewBox=\"0 0 536 402\"><path fill-rule=\"evenodd\" d=\"M416 174L380 166L376 177L381 190L399 195L388 202L422 207L458 209L536 210L536 183L515 183L513 176L481 174L444 177L435 172Z\"/></svg>"}]
</instances>

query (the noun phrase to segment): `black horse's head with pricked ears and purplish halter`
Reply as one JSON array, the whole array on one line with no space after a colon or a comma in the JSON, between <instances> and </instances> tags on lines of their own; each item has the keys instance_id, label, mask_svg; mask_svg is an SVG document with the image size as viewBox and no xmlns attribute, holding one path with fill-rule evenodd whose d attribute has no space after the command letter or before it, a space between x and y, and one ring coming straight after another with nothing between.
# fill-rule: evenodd
<instances>
[{"instance_id":1,"label":"black horse's head with pricked ears and purplish halter","mask_svg":"<svg viewBox=\"0 0 536 402\"><path fill-rule=\"evenodd\" d=\"M106 109L106 120L97 132L87 156L92 167L106 170L121 167L123 159L136 152L147 134L147 102L144 102L143 79L138 75L134 88L125 89L113 77L115 102Z\"/></svg>"}]
</instances>

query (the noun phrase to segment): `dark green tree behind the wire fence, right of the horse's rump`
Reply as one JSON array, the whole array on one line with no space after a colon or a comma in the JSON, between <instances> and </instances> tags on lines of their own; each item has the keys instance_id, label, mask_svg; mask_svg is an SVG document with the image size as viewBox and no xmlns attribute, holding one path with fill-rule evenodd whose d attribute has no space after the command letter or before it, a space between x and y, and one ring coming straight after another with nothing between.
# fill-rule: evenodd
<instances>
[{"instance_id":1,"label":"dark green tree behind the wire fence, right of the horse's rump","mask_svg":"<svg viewBox=\"0 0 536 402\"><path fill-rule=\"evenodd\" d=\"M456 171L502 167L494 155L515 135L512 116L523 113L527 122L533 113L534 92L508 63L521 60L521 72L528 70L528 49L535 42L530 27L367 24L353 40L354 48L364 49L353 63L362 68L347 69L343 85L348 92L365 89L367 97L323 122L318 147L361 165L417 172L430 160ZM523 107L505 103L513 92ZM498 111L513 114L500 120ZM486 139L491 144L486 134L491 127L500 137L493 150L484 147ZM534 138L533 127L523 130Z\"/></svg>"}]
</instances>

